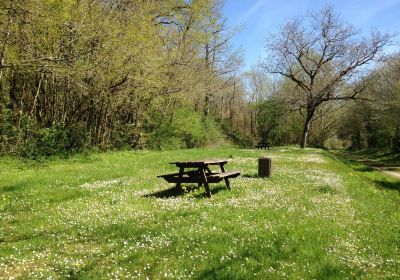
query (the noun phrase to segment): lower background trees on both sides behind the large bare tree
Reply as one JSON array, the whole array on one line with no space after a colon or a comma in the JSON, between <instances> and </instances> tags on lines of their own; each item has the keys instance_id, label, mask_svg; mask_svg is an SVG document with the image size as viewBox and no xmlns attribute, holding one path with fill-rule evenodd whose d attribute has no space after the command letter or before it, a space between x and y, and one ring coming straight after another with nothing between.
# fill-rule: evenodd
<instances>
[{"instance_id":1,"label":"lower background trees on both sides behind the large bare tree","mask_svg":"<svg viewBox=\"0 0 400 280\"><path fill-rule=\"evenodd\" d=\"M271 79L259 67L246 79L254 136L277 145L300 144L306 121L299 108L301 92L288 80ZM357 98L319 106L310 123L309 146L400 152L400 54L370 69L362 84ZM359 88L360 81L348 86Z\"/></svg>"}]
</instances>

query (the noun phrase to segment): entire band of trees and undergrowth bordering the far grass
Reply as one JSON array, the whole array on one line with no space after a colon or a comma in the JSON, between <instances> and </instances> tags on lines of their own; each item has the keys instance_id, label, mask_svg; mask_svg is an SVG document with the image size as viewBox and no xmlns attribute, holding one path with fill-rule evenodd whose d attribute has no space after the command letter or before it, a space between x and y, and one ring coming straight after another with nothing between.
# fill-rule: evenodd
<instances>
[{"instance_id":1,"label":"entire band of trees and undergrowth bordering the far grass","mask_svg":"<svg viewBox=\"0 0 400 280\"><path fill-rule=\"evenodd\" d=\"M1 1L0 153L251 146L259 139L398 145L398 58L364 67L383 61L391 35L363 39L325 8L284 25L267 40L264 62L243 73L230 43L238 30L226 25L222 5ZM345 115L357 119L346 124Z\"/></svg>"}]
</instances>

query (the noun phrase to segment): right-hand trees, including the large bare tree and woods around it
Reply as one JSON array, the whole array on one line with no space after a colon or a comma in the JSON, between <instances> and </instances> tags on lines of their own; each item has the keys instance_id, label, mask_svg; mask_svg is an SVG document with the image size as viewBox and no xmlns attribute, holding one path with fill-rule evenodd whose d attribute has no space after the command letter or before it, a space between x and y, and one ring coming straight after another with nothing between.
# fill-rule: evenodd
<instances>
[{"instance_id":1,"label":"right-hand trees, including the large bare tree and woods around it","mask_svg":"<svg viewBox=\"0 0 400 280\"><path fill-rule=\"evenodd\" d=\"M247 74L258 135L302 148L400 151L400 56L384 52L394 37L362 36L329 6L287 22Z\"/></svg>"}]
</instances>

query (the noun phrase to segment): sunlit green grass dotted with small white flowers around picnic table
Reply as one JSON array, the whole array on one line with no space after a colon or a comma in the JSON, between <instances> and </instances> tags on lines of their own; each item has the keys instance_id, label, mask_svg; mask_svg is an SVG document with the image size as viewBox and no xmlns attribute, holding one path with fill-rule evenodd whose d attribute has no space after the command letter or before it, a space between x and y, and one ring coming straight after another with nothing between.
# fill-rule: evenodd
<instances>
[{"instance_id":1,"label":"sunlit green grass dotted with small white flowers around picnic table","mask_svg":"<svg viewBox=\"0 0 400 280\"><path fill-rule=\"evenodd\" d=\"M156 175L201 158L243 176L168 196ZM399 279L400 182L359 167L296 148L3 158L0 279Z\"/></svg>"}]
</instances>

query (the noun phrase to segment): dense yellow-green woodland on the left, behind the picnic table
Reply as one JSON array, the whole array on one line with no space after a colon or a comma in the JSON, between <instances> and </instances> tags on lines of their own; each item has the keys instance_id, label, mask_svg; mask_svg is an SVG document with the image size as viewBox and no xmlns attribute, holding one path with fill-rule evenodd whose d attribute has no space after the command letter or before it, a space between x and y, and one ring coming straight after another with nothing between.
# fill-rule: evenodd
<instances>
[{"instance_id":1,"label":"dense yellow-green woodland on the left, behind the picnic table","mask_svg":"<svg viewBox=\"0 0 400 280\"><path fill-rule=\"evenodd\" d=\"M214 141L220 128L207 116L233 112L225 93L240 65L221 8L212 0L1 1L1 151Z\"/></svg>"}]
</instances>

